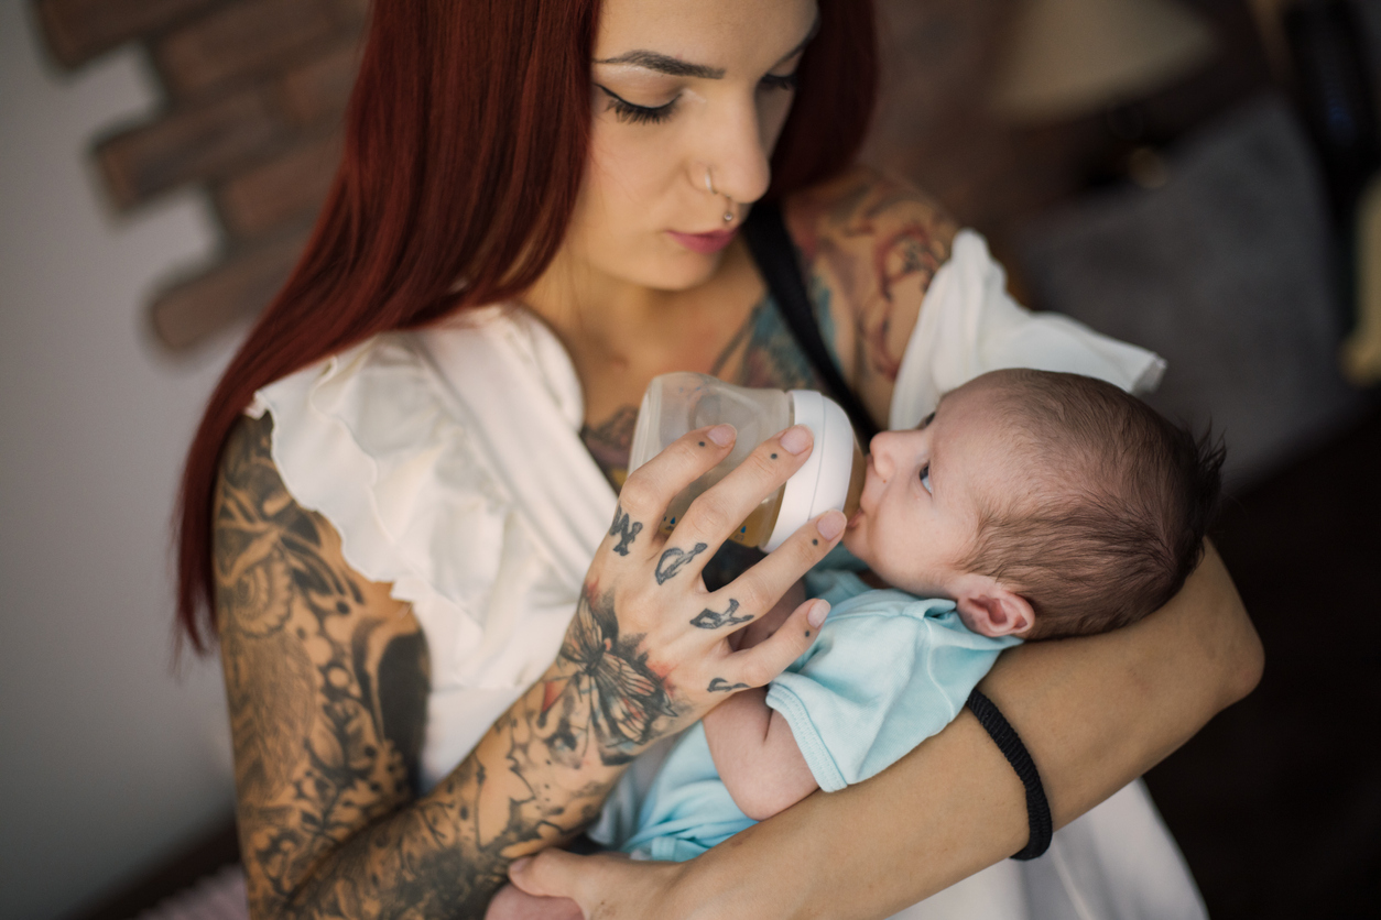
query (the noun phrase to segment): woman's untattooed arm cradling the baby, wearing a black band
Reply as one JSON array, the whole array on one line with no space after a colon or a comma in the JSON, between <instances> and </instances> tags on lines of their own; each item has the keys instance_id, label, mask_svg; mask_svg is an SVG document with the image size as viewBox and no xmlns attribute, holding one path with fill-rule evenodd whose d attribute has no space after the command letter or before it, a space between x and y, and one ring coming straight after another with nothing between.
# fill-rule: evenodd
<instances>
[{"instance_id":1,"label":"woman's untattooed arm cradling the baby, wearing a black band","mask_svg":"<svg viewBox=\"0 0 1381 920\"><path fill-rule=\"evenodd\" d=\"M1250 692L1261 668L1261 643L1210 548L1156 614L1004 652L982 688L1026 742L1062 826ZM811 796L692 862L543 854L512 877L534 894L576 898L594 920L885 917L1026 839L1022 783L964 712L873 779Z\"/></svg>"}]
</instances>

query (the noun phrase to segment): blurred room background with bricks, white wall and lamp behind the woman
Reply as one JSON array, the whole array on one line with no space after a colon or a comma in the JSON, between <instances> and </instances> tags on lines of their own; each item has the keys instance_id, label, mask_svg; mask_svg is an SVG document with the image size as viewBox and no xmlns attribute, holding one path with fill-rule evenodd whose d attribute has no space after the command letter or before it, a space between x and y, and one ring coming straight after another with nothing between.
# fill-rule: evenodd
<instances>
[{"instance_id":1,"label":"blurred room background with bricks, white wall and lamp behind the woman","mask_svg":"<svg viewBox=\"0 0 1381 920\"><path fill-rule=\"evenodd\" d=\"M365 12L0 0L0 917L235 897L167 523L325 194ZM1211 916L1375 916L1381 0L878 12L865 159L986 233L1023 302L1164 354L1157 406L1229 444L1217 539L1266 676L1148 777Z\"/></svg>"}]
</instances>

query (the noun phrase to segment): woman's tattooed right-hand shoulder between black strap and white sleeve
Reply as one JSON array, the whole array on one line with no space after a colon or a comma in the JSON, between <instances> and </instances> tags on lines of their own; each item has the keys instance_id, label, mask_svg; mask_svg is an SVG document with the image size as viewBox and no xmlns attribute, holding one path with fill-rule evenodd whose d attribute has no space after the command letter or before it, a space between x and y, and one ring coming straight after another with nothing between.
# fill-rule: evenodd
<instances>
[{"instance_id":1,"label":"woman's tattooed right-hand shoulder between black strap and white sleeve","mask_svg":"<svg viewBox=\"0 0 1381 920\"><path fill-rule=\"evenodd\" d=\"M790 196L783 212L844 375L887 419L902 354L958 226L934 199L867 167Z\"/></svg>"}]
</instances>

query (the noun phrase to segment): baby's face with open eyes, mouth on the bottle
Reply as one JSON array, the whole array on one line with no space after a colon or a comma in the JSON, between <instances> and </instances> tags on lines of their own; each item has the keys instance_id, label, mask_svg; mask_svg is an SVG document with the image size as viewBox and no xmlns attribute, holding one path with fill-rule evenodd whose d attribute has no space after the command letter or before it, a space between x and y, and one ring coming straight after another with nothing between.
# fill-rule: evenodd
<instances>
[{"instance_id":1,"label":"baby's face with open eyes, mouth on the bottle","mask_svg":"<svg viewBox=\"0 0 1381 920\"><path fill-rule=\"evenodd\" d=\"M888 583L953 596L981 509L1019 481L989 396L989 385L975 381L940 400L920 428L873 439L844 545Z\"/></svg>"}]
</instances>

